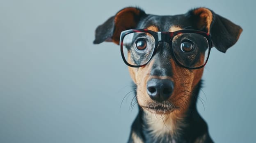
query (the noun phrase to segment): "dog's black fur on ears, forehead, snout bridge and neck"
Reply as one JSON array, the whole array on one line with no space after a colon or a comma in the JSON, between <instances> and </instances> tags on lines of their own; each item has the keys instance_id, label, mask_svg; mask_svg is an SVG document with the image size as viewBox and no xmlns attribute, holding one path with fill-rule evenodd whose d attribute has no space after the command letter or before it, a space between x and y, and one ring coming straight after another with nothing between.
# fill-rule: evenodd
<instances>
[{"instance_id":1,"label":"dog's black fur on ears, forehead, snout bridge and neck","mask_svg":"<svg viewBox=\"0 0 256 143\"><path fill-rule=\"evenodd\" d=\"M175 16L156 16L146 14L142 9L138 8L128 7L127 9L122 9L115 16L112 16L105 23L98 26L96 29L94 44L111 40L118 44L121 31L127 29L145 29L153 25L157 27L159 31L169 31L170 27L178 26L183 29L189 27L190 29L205 32L209 31L213 45L219 51L226 52L229 47L235 44L240 36L240 33L242 32L240 26L235 25L231 21L215 14L209 9L206 9L207 13L210 11L210 14L212 15L209 28L208 25L200 25L200 27L198 26L198 21L200 21L200 18L203 16L200 15L201 13L195 14L194 11L196 9L192 9L185 14ZM119 19L120 14L121 21ZM129 17L127 20L122 16L131 17ZM174 59L174 55L171 54L169 48L169 44L166 42L161 42L158 44L153 56L155 63L151 68L151 75L173 76L174 73L169 60ZM178 131L176 131L177 135L174 136L173 134L165 134L164 137L161 138L152 136L149 129L149 124L144 119L145 112L139 106L139 113L133 122L128 143L135 142L133 138L134 134L144 143L212 143L213 141L210 139L210 135L208 134L207 124L197 112L196 107L201 83L202 81L200 81L196 87L190 91L190 96L192 96L193 100L189 101L189 108L184 113L185 117L183 118L183 122L186 124L186 126L181 127ZM136 85L134 86L137 88ZM136 92L135 95L137 95Z\"/></svg>"}]
</instances>

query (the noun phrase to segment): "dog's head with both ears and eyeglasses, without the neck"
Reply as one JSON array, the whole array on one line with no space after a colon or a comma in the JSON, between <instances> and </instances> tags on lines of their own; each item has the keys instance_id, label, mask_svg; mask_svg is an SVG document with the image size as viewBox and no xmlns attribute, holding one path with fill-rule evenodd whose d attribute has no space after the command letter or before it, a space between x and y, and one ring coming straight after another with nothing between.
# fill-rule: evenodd
<instances>
[{"instance_id":1,"label":"dog's head with both ears and eyeglasses, without the neck","mask_svg":"<svg viewBox=\"0 0 256 143\"><path fill-rule=\"evenodd\" d=\"M195 103L210 48L226 52L241 32L241 27L206 8L156 16L128 7L98 26L94 44L120 42L123 59L137 85L139 106L167 114L184 112Z\"/></svg>"}]
</instances>

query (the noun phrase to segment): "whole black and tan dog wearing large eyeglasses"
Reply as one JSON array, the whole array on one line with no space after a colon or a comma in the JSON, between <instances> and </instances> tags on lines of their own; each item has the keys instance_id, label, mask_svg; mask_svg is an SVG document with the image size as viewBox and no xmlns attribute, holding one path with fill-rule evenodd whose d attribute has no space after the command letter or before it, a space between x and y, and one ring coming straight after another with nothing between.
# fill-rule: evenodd
<instances>
[{"instance_id":1,"label":"whole black and tan dog wearing large eyeglasses","mask_svg":"<svg viewBox=\"0 0 256 143\"><path fill-rule=\"evenodd\" d=\"M98 26L94 44L120 45L136 88L128 143L212 143L196 107L203 67L212 47L225 53L241 32L204 7L174 16L126 7Z\"/></svg>"}]
</instances>

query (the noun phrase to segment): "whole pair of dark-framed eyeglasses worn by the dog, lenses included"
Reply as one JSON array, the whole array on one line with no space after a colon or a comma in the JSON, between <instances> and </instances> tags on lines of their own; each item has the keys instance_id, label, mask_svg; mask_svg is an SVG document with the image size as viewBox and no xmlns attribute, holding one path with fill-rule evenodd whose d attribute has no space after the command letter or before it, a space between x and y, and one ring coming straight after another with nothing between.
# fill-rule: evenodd
<instances>
[{"instance_id":1,"label":"whole pair of dark-framed eyeglasses worn by the dog, lenses included","mask_svg":"<svg viewBox=\"0 0 256 143\"><path fill-rule=\"evenodd\" d=\"M185 68L204 67L210 55L210 35L203 31L185 29L175 32L155 32L130 29L121 32L120 46L124 63L142 67L149 63L160 42L168 42L176 62Z\"/></svg>"}]
</instances>

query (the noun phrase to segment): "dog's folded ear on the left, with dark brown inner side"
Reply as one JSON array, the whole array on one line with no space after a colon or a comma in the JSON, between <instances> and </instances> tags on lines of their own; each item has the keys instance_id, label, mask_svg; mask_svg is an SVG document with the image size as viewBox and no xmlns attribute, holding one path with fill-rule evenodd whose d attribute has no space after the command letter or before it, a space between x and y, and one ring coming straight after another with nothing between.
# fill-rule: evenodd
<instances>
[{"instance_id":1,"label":"dog's folded ear on the left, with dark brown inner side","mask_svg":"<svg viewBox=\"0 0 256 143\"><path fill-rule=\"evenodd\" d=\"M121 31L136 28L139 20L144 16L146 13L139 8L127 7L122 9L97 27L94 44L109 41L118 45Z\"/></svg>"}]
</instances>

